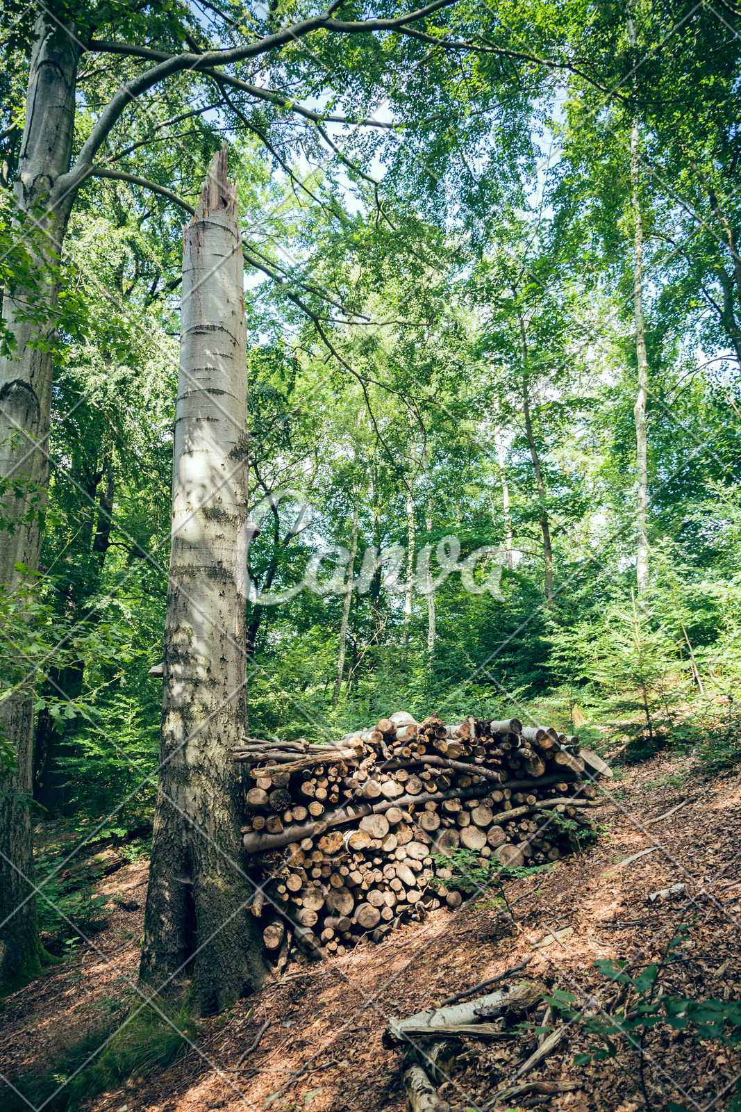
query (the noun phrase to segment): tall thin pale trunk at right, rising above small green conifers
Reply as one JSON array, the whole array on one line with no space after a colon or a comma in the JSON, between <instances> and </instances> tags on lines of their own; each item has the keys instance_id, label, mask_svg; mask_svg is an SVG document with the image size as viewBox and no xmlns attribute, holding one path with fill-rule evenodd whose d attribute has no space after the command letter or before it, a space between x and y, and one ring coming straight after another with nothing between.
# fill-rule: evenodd
<instances>
[{"instance_id":1,"label":"tall thin pale trunk at right, rising above small green conifers","mask_svg":"<svg viewBox=\"0 0 741 1112\"><path fill-rule=\"evenodd\" d=\"M628 17L628 38L637 46L635 28ZM640 167L638 158L638 116L633 116L630 130L630 183L633 207L633 315L635 318L635 358L638 363L638 394L633 406L635 420L635 578L639 603L649 589L649 457L645 426L645 405L649 399L649 359L645 353L645 325L643 322L643 219L641 216Z\"/></svg>"}]
</instances>

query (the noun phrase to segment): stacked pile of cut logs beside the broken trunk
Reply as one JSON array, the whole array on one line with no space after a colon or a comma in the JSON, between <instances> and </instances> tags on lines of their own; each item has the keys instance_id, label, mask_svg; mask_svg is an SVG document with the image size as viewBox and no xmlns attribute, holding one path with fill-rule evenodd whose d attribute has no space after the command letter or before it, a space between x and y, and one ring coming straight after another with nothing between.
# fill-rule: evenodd
<instances>
[{"instance_id":1,"label":"stacked pile of cut logs beside the broken trunk","mask_svg":"<svg viewBox=\"0 0 741 1112\"><path fill-rule=\"evenodd\" d=\"M440 863L459 847L477 866L509 868L573 852L574 831L595 827L594 781L611 775L553 727L405 712L333 745L243 738L233 758L249 767L251 910L279 967L290 953L341 955L402 916L460 906L461 871Z\"/></svg>"}]
</instances>

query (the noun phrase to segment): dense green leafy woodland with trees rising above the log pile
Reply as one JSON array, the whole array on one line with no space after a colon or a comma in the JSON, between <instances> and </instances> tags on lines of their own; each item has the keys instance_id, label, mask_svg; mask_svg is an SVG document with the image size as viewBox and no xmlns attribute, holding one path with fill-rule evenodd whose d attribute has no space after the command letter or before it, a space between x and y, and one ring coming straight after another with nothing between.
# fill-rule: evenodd
<instances>
[{"instance_id":1,"label":"dense green leafy woodland with trees rising above the log pile","mask_svg":"<svg viewBox=\"0 0 741 1112\"><path fill-rule=\"evenodd\" d=\"M740 32L733 0L6 0L3 997L104 930L114 851L147 1040L249 1006L246 738L404 711L738 766ZM8 1084L71 1109L148 1066L116 1069Z\"/></svg>"}]
</instances>

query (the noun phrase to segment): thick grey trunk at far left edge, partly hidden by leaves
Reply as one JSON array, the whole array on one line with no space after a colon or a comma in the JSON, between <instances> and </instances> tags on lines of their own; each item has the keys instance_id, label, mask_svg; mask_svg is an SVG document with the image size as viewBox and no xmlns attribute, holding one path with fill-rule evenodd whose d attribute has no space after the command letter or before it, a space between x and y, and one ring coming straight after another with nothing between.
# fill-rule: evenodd
<instances>
[{"instance_id":1,"label":"thick grey trunk at far left edge, partly hidden by leaves","mask_svg":"<svg viewBox=\"0 0 741 1112\"><path fill-rule=\"evenodd\" d=\"M18 484L6 513L16 529L0 532L0 584L17 588L18 566L36 570L41 545L38 499L49 478L47 438L51 410L52 357L49 344L33 346L39 331L51 338L53 324L39 326L36 307L52 311L58 301L52 256L61 246L72 196L56 190L69 170L74 125L78 48L67 30L44 14L36 22L26 122L19 158L16 203L33 227L38 206L47 212L29 248L36 255L38 285L6 291L3 315L16 339L12 357L0 361L0 476ZM19 227L18 235L24 235ZM48 235L48 239L46 236ZM30 314L29 314L30 310ZM32 582L32 580L31 580ZM39 944L33 898L33 845L29 800L33 777L33 684L19 685L0 703L0 726L13 744L18 772L0 793L0 992L37 975L44 960Z\"/></svg>"}]
</instances>

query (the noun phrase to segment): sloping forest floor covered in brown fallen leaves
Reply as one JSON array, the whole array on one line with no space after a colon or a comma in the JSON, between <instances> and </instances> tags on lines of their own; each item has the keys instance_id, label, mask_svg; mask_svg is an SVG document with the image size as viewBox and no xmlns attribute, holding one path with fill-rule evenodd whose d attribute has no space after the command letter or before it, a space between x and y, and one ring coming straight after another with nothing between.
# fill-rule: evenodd
<instances>
[{"instance_id":1,"label":"sloping forest floor covered in brown fallen leaves","mask_svg":"<svg viewBox=\"0 0 741 1112\"><path fill-rule=\"evenodd\" d=\"M261 992L202 1023L197 1051L159 1073L133 1076L87 1104L86 1112L395 1112L404 1108L402 1054L382 1044L389 1017L438 1005L531 955L529 979L580 1002L591 994L609 1012L619 986L594 960L624 960L638 972L661 960L681 924L687 937L661 969L662 991L740 1000L741 770L708 776L691 758L659 755L625 768L608 791L611 801L599 813L605 832L597 845L509 886L514 923L493 901L478 898L455 913L440 910L422 925L400 927L381 945L359 946L332 962L290 965ZM643 825L682 801L689 802L674 814ZM647 901L674 884L687 887L669 901ZM94 946L81 946L4 1002L0 1072L11 1081L53 1069L62 1048L133 1000L146 885L146 863L126 865L100 882L97 891L110 900L110 921L93 936ZM549 929L565 927L571 930L559 941L533 945ZM258 1050L234 1071L266 1020L270 1026ZM451 1112L484 1105L503 1112L535 1106L533 1101L564 1112L645 1108L639 1054L621 1037L617 1059L575 1066L574 1053L593 1044L574 1024L523 1079L571 1079L580 1089L498 1104L498 1088L517 1074L532 1036L463 1040L440 1093ZM643 1049L649 1108L674 1102L720 1112L729 1106L741 1070L735 1050L665 1024L645 1033Z\"/></svg>"}]
</instances>

